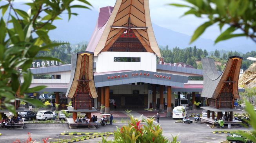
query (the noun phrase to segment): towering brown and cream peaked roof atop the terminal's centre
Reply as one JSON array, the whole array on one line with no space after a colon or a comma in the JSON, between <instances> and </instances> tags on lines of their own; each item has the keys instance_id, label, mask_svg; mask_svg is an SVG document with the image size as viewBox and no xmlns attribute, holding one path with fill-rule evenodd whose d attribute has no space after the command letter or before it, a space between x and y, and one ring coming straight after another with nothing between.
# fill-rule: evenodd
<instances>
[{"instance_id":1,"label":"towering brown and cream peaked roof atop the terminal's centre","mask_svg":"<svg viewBox=\"0 0 256 143\"><path fill-rule=\"evenodd\" d=\"M111 7L107 8L110 12ZM100 9L99 16L102 16L104 20L108 18L106 10L103 9L102 11ZM138 40L143 52L155 53L161 57L151 24L148 0L117 0L104 26L102 26L104 22L99 22L99 20L87 46L87 51L94 52L94 56L98 56L100 52L110 51L111 46L115 46L116 41L125 35L127 38ZM102 28L99 29L99 27ZM136 50L131 49L129 52L136 52Z\"/></svg>"}]
</instances>

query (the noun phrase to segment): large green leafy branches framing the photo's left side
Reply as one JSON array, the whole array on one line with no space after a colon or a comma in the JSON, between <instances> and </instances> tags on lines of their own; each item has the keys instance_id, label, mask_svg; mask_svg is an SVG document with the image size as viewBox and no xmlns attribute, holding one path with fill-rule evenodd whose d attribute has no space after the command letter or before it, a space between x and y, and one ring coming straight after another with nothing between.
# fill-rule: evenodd
<instances>
[{"instance_id":1,"label":"large green leafy branches framing the photo's left side","mask_svg":"<svg viewBox=\"0 0 256 143\"><path fill-rule=\"evenodd\" d=\"M14 0L7 0L8 4L0 7L0 98L4 106L15 113L15 107L10 104L15 100L21 100L37 107L44 107L42 102L36 99L24 97L24 93L34 93L45 88L36 86L29 88L32 73L28 70L34 60L54 60L53 57L36 57L43 50L61 45L52 43L49 39L49 31L56 29L55 20L65 11L69 19L71 15L77 15L71 10L77 6L72 5L74 0L33 0L25 3L29 7L27 12L15 9ZM86 0L80 0L86 6L91 6ZM83 8L89 9L83 6ZM9 9L8 13L6 13ZM5 19L6 18L6 19ZM22 75L24 83L20 85L18 78ZM18 97L15 94L18 93Z\"/></svg>"}]
</instances>

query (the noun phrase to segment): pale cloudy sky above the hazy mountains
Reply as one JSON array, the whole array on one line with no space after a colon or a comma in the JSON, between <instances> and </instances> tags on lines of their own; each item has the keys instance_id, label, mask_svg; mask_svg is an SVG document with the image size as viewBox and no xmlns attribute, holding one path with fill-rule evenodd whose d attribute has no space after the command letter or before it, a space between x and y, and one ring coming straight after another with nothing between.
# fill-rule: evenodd
<instances>
[{"instance_id":1,"label":"pale cloudy sky above the hazy mountains","mask_svg":"<svg viewBox=\"0 0 256 143\"><path fill-rule=\"evenodd\" d=\"M88 0L94 7L93 10L98 11L100 7L114 6L116 0ZM206 19L196 18L195 16L185 16L180 18L187 11L187 8L173 7L167 4L179 3L184 4L182 0L149 0L151 21L156 25L165 27L176 32L192 36L194 30L204 23ZM220 30L218 27L212 26L208 28L202 35L202 38L214 40Z\"/></svg>"}]
</instances>

